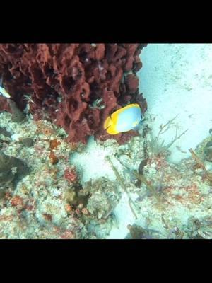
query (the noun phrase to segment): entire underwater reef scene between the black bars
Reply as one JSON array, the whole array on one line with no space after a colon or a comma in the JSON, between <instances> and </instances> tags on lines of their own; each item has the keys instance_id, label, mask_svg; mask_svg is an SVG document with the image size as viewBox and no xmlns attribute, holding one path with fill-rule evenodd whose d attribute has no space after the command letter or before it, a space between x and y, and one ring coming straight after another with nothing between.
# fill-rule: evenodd
<instances>
[{"instance_id":1,"label":"entire underwater reef scene between the black bars","mask_svg":"<svg viewBox=\"0 0 212 283\"><path fill-rule=\"evenodd\" d=\"M0 44L1 239L211 239L212 44Z\"/></svg>"}]
</instances>

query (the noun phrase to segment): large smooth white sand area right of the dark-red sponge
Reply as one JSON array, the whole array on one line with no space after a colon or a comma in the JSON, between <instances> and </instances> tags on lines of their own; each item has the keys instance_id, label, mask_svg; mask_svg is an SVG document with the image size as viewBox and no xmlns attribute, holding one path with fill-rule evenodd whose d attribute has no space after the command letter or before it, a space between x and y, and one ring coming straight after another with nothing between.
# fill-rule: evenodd
<instances>
[{"instance_id":1,"label":"large smooth white sand area right of the dark-red sponge","mask_svg":"<svg viewBox=\"0 0 212 283\"><path fill-rule=\"evenodd\" d=\"M140 90L148 113L157 116L153 133L177 114L178 132L189 129L171 148L170 161L179 162L190 155L189 148L208 137L212 127L212 44L150 44L141 61ZM163 139L168 143L174 136L175 129Z\"/></svg>"}]
</instances>

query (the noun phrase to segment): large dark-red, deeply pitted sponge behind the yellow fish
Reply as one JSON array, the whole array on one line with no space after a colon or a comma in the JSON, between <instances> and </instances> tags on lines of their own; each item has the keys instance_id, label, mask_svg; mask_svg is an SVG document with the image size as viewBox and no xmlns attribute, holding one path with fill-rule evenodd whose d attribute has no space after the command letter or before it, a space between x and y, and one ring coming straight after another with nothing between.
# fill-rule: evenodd
<instances>
[{"instance_id":1,"label":"large dark-red, deeply pitted sponge behind the yellow fish","mask_svg":"<svg viewBox=\"0 0 212 283\"><path fill-rule=\"evenodd\" d=\"M1 44L0 74L20 110L28 103L35 120L64 127L71 142L87 137L124 143L136 132L111 137L102 124L126 103L146 100L139 94L136 72L145 44ZM9 110L10 100L0 110ZM13 105L13 104L12 104Z\"/></svg>"}]
</instances>

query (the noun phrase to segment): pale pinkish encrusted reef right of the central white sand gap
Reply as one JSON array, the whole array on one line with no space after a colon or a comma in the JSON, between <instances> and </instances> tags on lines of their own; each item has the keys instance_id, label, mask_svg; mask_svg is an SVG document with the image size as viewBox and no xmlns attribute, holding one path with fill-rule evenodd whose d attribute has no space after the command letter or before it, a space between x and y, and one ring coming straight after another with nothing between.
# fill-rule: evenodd
<instances>
[{"instance_id":1,"label":"pale pinkish encrusted reef right of the central white sand gap","mask_svg":"<svg viewBox=\"0 0 212 283\"><path fill-rule=\"evenodd\" d=\"M130 233L126 238L210 238L212 168L206 149L211 145L211 136L196 149L190 149L189 158L170 163L167 157L173 141L176 137L183 139L186 132L176 134L166 146L158 142L158 136L152 137L151 123L146 115L141 137L134 137L111 154L136 212L134 216L128 209L131 218L125 221L127 201L125 207L117 205L114 214L118 218L122 215L121 225L125 228L117 229L116 233L126 231L127 227L129 231L125 233ZM163 125L160 129L164 129ZM153 140L157 142L153 144ZM197 228L191 219L199 223Z\"/></svg>"}]
</instances>

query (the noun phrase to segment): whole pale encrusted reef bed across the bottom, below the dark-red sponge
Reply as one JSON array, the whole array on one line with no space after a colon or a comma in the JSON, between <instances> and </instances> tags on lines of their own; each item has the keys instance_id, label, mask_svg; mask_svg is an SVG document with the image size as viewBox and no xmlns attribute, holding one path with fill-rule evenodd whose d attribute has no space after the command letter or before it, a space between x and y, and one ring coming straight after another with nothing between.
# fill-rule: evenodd
<instances>
[{"instance_id":1,"label":"whole pale encrusted reef bed across the bottom, below the dark-red sponge","mask_svg":"<svg viewBox=\"0 0 212 283\"><path fill-rule=\"evenodd\" d=\"M11 116L0 113L0 238L211 238L211 136L175 164L167 158L175 132L160 142L148 115L126 144L89 140L96 155L51 121ZM78 155L99 173L75 163Z\"/></svg>"}]
</instances>

